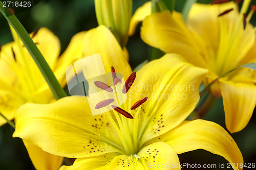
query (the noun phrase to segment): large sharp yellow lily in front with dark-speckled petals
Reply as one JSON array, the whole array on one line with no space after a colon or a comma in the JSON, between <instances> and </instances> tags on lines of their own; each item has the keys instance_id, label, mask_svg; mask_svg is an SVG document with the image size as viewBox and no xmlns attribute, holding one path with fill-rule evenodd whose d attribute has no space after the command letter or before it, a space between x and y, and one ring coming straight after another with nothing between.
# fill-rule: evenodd
<instances>
[{"instance_id":1,"label":"large sharp yellow lily in front with dark-speckled petals","mask_svg":"<svg viewBox=\"0 0 256 170\"><path fill-rule=\"evenodd\" d=\"M127 92L127 101L120 106L123 110L115 108L92 116L86 96L68 96L52 104L26 104L16 112L14 137L49 153L77 158L72 166L61 166L61 170L149 169L164 163L180 169L177 154L196 149L243 163L236 142L221 126L206 120L184 121L199 101L198 88L205 69L179 55L167 54L132 74L122 48L104 26L88 31L83 43L83 55L100 53L106 72L114 73L115 69L124 79L129 77L126 82L130 83L136 77L132 87L123 91ZM189 85L193 89L184 89Z\"/></svg>"}]
</instances>

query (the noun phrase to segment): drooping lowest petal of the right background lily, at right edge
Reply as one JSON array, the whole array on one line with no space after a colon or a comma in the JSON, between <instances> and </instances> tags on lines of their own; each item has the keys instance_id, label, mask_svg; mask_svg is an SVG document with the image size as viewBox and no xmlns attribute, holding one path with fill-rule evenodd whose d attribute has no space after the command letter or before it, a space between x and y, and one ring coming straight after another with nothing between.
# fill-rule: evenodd
<instances>
[{"instance_id":1,"label":"drooping lowest petal of the right background lily, at right edge","mask_svg":"<svg viewBox=\"0 0 256 170\"><path fill-rule=\"evenodd\" d=\"M227 129L239 132L248 124L256 105L254 84L220 80Z\"/></svg>"}]
</instances>

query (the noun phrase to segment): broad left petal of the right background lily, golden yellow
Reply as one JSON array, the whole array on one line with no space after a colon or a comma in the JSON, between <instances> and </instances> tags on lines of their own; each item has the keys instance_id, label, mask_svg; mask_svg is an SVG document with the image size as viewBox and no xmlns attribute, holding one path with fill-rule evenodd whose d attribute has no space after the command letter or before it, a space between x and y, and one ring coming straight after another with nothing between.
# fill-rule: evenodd
<instances>
[{"instance_id":1,"label":"broad left petal of the right background lily, golden yellow","mask_svg":"<svg viewBox=\"0 0 256 170\"><path fill-rule=\"evenodd\" d=\"M165 53L177 53L188 62L207 68L201 54L205 50L199 37L188 31L177 12L154 13L144 19L141 27L142 40ZM186 49L186 50L184 50Z\"/></svg>"}]
</instances>

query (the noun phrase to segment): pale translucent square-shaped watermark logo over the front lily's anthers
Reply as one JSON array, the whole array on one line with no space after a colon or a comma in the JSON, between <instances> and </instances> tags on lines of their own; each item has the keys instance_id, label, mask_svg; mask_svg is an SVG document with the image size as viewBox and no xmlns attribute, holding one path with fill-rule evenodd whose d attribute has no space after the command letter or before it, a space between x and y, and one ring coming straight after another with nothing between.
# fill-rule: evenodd
<instances>
[{"instance_id":1,"label":"pale translucent square-shaped watermark logo over the front lily's anthers","mask_svg":"<svg viewBox=\"0 0 256 170\"><path fill-rule=\"evenodd\" d=\"M83 58L70 65L66 69L66 77L67 81L71 79L68 81L70 95L87 96L92 115L121 109L119 106L126 101L126 91L131 87L125 83L122 74L115 72L114 67L112 72L105 72L100 54ZM121 112L132 118L130 113L124 110Z\"/></svg>"}]
</instances>

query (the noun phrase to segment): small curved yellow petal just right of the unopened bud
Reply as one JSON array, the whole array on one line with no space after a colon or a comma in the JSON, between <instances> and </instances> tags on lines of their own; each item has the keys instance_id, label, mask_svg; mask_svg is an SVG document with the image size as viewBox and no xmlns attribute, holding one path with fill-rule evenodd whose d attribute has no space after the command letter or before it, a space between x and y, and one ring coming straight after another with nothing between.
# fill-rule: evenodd
<instances>
[{"instance_id":1,"label":"small curved yellow petal just right of the unopened bud","mask_svg":"<svg viewBox=\"0 0 256 170\"><path fill-rule=\"evenodd\" d=\"M138 23L143 21L144 18L150 14L151 14L151 1L146 2L143 6L139 7L133 14L130 22L129 36L132 36L135 33Z\"/></svg>"}]
</instances>

